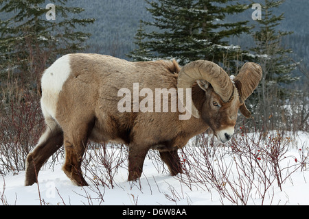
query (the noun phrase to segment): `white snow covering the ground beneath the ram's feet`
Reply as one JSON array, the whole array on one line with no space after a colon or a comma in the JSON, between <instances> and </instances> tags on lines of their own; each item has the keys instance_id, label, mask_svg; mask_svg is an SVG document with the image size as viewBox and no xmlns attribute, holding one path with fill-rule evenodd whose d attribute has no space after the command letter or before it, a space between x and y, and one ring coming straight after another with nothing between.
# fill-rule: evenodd
<instances>
[{"instance_id":1,"label":"white snow covering the ground beneath the ram's feet","mask_svg":"<svg viewBox=\"0 0 309 219\"><path fill-rule=\"evenodd\" d=\"M300 161L304 159L304 157L301 158L299 151L302 150L305 155L308 155L309 133L298 132L296 136L291 138L293 140L290 142L293 143L288 146L288 151L284 154L286 158L280 162L283 178L290 174L282 183L282 191L274 180L262 200L263 188L257 179L254 179L252 188L245 188L242 185L245 189L241 190L236 186L238 193L249 192L246 197L247 205L309 205L309 170L307 166L304 166L302 170L299 168ZM50 167L48 164L43 166L38 175L38 184L25 187L23 185L25 172L0 177L0 205L242 205L239 200L233 203L227 196L222 196L214 184L211 185L205 181L198 182L193 179L196 170L189 167L186 162L190 161L193 164L194 159L201 155L199 149L192 146L193 142L191 141L186 148L188 151L195 150L196 152L185 153L186 149L184 154L180 152L189 175L170 176L166 166L161 165L159 155L151 151L146 157L140 181L128 182L126 180L128 177L126 150L119 149L119 147L108 147L107 157L110 161L116 162L115 160L119 156L122 159L118 168L114 168L112 171L114 174L113 186L108 181L105 181L106 185L102 185L102 183L99 185L97 178L93 175L95 172L100 178L106 173L102 165L98 164L100 163L99 159L96 162L91 162L90 159L86 161L85 174L87 177L85 179L89 182L89 186L81 188L73 185L61 170L63 160L62 156L59 156L59 161L54 166ZM239 171L233 167L234 158L230 153L231 147L229 145L220 146L213 152L225 154L222 159L213 159L214 168L222 166L231 170L229 177L233 183L239 183L240 179L243 179L242 183L246 182L238 175ZM308 160L305 161L308 163ZM202 165L201 169L203 168L205 167ZM201 171L206 172L205 169ZM229 190L229 194L235 196L228 186L224 188Z\"/></svg>"}]
</instances>

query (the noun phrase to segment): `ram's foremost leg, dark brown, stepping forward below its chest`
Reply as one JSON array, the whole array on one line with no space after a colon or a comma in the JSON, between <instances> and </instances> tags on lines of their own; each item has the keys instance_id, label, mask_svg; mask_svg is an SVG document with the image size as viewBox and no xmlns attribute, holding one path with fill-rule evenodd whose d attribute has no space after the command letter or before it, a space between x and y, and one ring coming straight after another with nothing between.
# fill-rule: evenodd
<instances>
[{"instance_id":1,"label":"ram's foremost leg, dark brown, stepping forward below its chest","mask_svg":"<svg viewBox=\"0 0 309 219\"><path fill-rule=\"evenodd\" d=\"M159 153L163 162L168 166L168 169L170 170L170 174L172 176L183 173L177 150L163 152L160 151Z\"/></svg>"}]
</instances>

